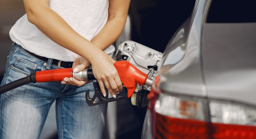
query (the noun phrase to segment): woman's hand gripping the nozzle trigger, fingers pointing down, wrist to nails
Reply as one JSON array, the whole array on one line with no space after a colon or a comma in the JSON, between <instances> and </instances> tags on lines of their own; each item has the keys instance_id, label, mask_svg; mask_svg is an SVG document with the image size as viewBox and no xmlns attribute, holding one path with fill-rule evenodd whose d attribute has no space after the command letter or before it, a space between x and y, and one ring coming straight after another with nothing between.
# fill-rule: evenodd
<instances>
[{"instance_id":1,"label":"woman's hand gripping the nozzle trigger, fingers pointing down, wrist to nails","mask_svg":"<svg viewBox=\"0 0 256 139\"><path fill-rule=\"evenodd\" d=\"M90 62L92 64L93 75L98 80L103 95L107 95L104 87L105 83L110 94L116 98L115 93L121 91L123 85L114 66L115 60L102 51Z\"/></svg>"}]
</instances>

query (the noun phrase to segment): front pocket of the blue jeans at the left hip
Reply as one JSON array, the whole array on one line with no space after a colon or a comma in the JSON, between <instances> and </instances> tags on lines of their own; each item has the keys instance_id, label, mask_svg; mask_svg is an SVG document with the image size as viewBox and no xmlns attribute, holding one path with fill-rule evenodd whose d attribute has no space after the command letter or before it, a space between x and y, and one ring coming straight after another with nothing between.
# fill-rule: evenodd
<instances>
[{"instance_id":1,"label":"front pocket of the blue jeans at the left hip","mask_svg":"<svg viewBox=\"0 0 256 139\"><path fill-rule=\"evenodd\" d=\"M26 75L30 75L30 73L35 72L36 67L36 64L21 57L17 57L14 65L10 65L10 68L12 68L13 70L24 73Z\"/></svg>"}]
</instances>

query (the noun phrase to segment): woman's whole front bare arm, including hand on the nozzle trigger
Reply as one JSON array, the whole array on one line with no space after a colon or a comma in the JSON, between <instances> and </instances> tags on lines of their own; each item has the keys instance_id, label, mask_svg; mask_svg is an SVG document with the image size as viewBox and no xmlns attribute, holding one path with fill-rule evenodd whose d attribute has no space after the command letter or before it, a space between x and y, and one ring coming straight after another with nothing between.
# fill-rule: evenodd
<instances>
[{"instance_id":1,"label":"woman's whole front bare arm, including hand on the nozzle trigger","mask_svg":"<svg viewBox=\"0 0 256 139\"><path fill-rule=\"evenodd\" d=\"M48 7L49 0L23 1L29 22L36 25L49 39L89 60L103 93L106 93L103 82L109 90L122 88L122 82L113 65L114 60L75 32L63 18Z\"/></svg>"}]
</instances>

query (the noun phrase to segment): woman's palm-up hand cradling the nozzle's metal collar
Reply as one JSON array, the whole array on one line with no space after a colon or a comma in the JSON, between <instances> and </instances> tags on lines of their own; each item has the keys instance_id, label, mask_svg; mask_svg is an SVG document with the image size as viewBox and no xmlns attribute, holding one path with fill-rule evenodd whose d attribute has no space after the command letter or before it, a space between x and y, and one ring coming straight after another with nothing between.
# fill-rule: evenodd
<instances>
[{"instance_id":1,"label":"woman's palm-up hand cradling the nozzle's metal collar","mask_svg":"<svg viewBox=\"0 0 256 139\"><path fill-rule=\"evenodd\" d=\"M84 70L86 67L90 67L90 62L81 56L78 56L72 65L73 72L75 73ZM78 87L80 87L89 82L90 81L78 81L73 77L70 77L70 78L65 77L63 81L61 81L61 84L71 84L71 85L77 85Z\"/></svg>"}]
</instances>

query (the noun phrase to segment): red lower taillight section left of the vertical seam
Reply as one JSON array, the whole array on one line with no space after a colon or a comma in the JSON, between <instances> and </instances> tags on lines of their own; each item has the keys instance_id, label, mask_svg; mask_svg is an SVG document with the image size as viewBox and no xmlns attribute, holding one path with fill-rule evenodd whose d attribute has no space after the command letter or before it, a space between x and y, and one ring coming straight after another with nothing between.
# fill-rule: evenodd
<instances>
[{"instance_id":1,"label":"red lower taillight section left of the vertical seam","mask_svg":"<svg viewBox=\"0 0 256 139\"><path fill-rule=\"evenodd\" d=\"M207 139L207 124L157 113L155 135L157 139Z\"/></svg>"}]
</instances>

